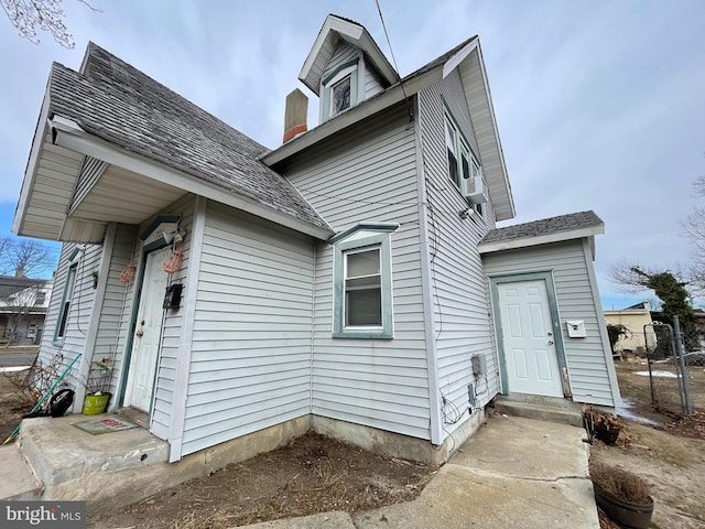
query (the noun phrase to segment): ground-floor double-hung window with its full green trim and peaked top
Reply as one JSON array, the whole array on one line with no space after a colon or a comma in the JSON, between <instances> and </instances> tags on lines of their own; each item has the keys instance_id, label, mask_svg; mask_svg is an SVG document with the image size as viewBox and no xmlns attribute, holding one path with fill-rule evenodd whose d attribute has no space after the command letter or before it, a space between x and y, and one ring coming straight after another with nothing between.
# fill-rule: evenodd
<instances>
[{"instance_id":1,"label":"ground-floor double-hung window with its full green trim and peaked top","mask_svg":"<svg viewBox=\"0 0 705 529\"><path fill-rule=\"evenodd\" d=\"M391 338L390 234L334 244L335 337Z\"/></svg>"}]
</instances>

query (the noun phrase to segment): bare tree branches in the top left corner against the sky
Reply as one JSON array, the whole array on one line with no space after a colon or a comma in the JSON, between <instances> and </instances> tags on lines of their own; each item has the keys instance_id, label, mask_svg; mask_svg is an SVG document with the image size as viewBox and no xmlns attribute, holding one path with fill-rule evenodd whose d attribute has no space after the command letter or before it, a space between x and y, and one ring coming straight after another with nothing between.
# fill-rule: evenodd
<instances>
[{"instance_id":1,"label":"bare tree branches in the top left corner against the sky","mask_svg":"<svg viewBox=\"0 0 705 529\"><path fill-rule=\"evenodd\" d=\"M77 0L94 11L99 11L85 0ZM37 29L48 31L54 40L64 47L73 48L74 35L64 23L62 0L0 0L12 25L34 44L39 44Z\"/></svg>"}]
</instances>

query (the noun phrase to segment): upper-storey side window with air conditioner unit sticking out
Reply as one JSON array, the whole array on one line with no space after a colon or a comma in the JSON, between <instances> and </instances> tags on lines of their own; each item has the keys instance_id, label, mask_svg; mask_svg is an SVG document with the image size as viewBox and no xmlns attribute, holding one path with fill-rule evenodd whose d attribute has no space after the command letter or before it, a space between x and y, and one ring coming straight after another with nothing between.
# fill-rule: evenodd
<instances>
[{"instance_id":1,"label":"upper-storey side window with air conditioner unit sticking out","mask_svg":"<svg viewBox=\"0 0 705 529\"><path fill-rule=\"evenodd\" d=\"M482 215L486 198L486 185L478 159L473 153L469 142L460 132L455 119L445 114L445 145L448 156L448 177L470 206Z\"/></svg>"}]
</instances>

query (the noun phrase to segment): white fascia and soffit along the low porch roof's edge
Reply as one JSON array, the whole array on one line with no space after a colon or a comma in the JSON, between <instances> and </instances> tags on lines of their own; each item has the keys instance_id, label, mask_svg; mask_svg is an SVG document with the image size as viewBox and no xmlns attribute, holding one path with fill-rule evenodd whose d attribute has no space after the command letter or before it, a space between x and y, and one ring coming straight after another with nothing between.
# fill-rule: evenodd
<instances>
[{"instance_id":1,"label":"white fascia and soffit along the low porch roof's edge","mask_svg":"<svg viewBox=\"0 0 705 529\"><path fill-rule=\"evenodd\" d=\"M15 212L13 231L18 235L50 240L98 244L102 241L106 225L109 222L124 222L117 218L91 218L82 215L80 207L76 207L75 191L86 156L101 160L110 166L120 168L138 175L144 182L145 187L160 186L176 190L182 195L193 193L204 196L321 240L325 240L332 235L326 229L265 207L249 197L194 179L189 174L167 168L153 160L143 159L139 154L86 132L72 119L62 116L53 116L48 119L44 115L40 116L40 120ZM51 163L51 158L56 155L57 151L64 154L65 160L70 160L73 163L52 169L54 165ZM61 185L61 188L52 188L50 193L46 193L46 190L43 188L46 182L43 180L51 181L52 185ZM109 204L106 203L106 212L110 210L108 206ZM139 222L158 213L159 209L143 207L142 217L135 218L134 223L139 224Z\"/></svg>"}]
</instances>

